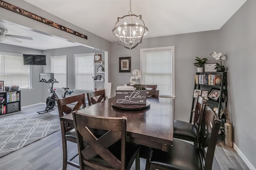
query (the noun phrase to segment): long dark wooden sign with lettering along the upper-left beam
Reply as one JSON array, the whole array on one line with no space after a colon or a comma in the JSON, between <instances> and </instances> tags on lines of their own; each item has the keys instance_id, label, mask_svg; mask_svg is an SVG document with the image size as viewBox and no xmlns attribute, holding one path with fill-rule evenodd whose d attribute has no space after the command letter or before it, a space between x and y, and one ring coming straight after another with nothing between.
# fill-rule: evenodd
<instances>
[{"instance_id":1,"label":"long dark wooden sign with lettering along the upper-left beam","mask_svg":"<svg viewBox=\"0 0 256 170\"><path fill-rule=\"evenodd\" d=\"M10 11L12 11L12 12L15 12L15 13L17 13L17 14L26 16L26 17L31 18L31 19L33 19L33 20L39 21L39 22L44 23L44 24L46 24L46 25L48 25L48 26L52 26L52 27L54 27L54 28L58 28L59 30L68 32L68 33L70 33L70 34L73 34L73 35L75 35L75 36L78 36L78 37L80 37L80 38L84 38L84 39L87 40L87 36L85 36L84 34L81 34L81 33L79 33L79 32L76 32L76 31L74 31L74 30L71 30L71 29L69 29L69 28L66 28L66 27L64 27L64 26L62 26L62 25L60 25L60 24L57 24L57 23L52 22L52 21L50 21L50 20L47 20L46 18L42 18L42 17L40 17L40 16L38 16L38 15L36 15L36 14L33 14L33 13L28 12L28 11L26 11L26 10L23 10L22 8L19 8L19 7L17 7L17 6L14 6L14 5L9 4L9 3L7 3L7 2L4 2L4 1L2 1L2 0L0 0L0 7L5 8L5 9L7 9L7 10L10 10Z\"/></svg>"}]
</instances>

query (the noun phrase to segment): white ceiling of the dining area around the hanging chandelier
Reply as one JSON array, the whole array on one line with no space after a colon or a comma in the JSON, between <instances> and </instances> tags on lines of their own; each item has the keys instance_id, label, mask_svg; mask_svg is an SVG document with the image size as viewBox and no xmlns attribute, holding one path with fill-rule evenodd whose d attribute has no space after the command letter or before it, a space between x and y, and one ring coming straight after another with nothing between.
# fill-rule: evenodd
<instances>
[{"instance_id":1,"label":"white ceiling of the dining area around the hanging chandelier","mask_svg":"<svg viewBox=\"0 0 256 170\"><path fill-rule=\"evenodd\" d=\"M130 10L129 0L25 1L110 42L116 41L112 28L117 17L127 15ZM132 0L131 7L133 14L142 15L142 20L148 27L149 33L144 38L152 38L218 30L244 2L246 0ZM12 30L9 29L8 34L11 33ZM41 42L42 40L45 39L41 39ZM35 41L33 45L36 46Z\"/></svg>"}]
</instances>

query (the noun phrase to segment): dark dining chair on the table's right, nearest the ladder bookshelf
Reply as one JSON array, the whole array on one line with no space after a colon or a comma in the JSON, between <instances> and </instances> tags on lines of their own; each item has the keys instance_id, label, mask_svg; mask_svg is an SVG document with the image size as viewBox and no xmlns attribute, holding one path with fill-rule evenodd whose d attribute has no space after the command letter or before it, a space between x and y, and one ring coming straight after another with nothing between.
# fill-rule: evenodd
<instances>
[{"instance_id":1,"label":"dark dining chair on the table's right, nearest the ladder bookshelf","mask_svg":"<svg viewBox=\"0 0 256 170\"><path fill-rule=\"evenodd\" d=\"M173 137L183 140L188 140L198 144L199 130L202 121L202 108L206 101L200 95L196 98L196 106L194 112L194 122L174 120Z\"/></svg>"}]
</instances>

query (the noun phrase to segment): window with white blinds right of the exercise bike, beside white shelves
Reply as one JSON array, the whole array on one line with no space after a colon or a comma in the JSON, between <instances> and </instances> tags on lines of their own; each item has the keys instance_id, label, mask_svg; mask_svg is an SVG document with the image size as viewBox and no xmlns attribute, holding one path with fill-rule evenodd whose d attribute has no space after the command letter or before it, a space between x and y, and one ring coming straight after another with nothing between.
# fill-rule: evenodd
<instances>
[{"instance_id":1,"label":"window with white blinds right of the exercise bike, beside white shelves","mask_svg":"<svg viewBox=\"0 0 256 170\"><path fill-rule=\"evenodd\" d=\"M76 89L94 90L94 53L77 54L76 61Z\"/></svg>"}]
</instances>

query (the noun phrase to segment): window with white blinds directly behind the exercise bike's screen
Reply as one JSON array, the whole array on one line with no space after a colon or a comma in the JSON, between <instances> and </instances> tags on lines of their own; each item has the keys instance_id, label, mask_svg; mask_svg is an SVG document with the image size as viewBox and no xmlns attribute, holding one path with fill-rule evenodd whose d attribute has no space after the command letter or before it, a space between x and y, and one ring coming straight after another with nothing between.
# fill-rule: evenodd
<instances>
[{"instance_id":1,"label":"window with white blinds directly behind the exercise bike's screen","mask_svg":"<svg viewBox=\"0 0 256 170\"><path fill-rule=\"evenodd\" d=\"M67 87L67 56L52 56L51 69L54 79L59 83L54 83L55 88Z\"/></svg>"}]
</instances>

